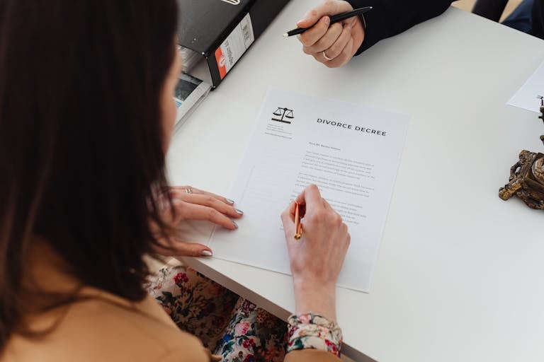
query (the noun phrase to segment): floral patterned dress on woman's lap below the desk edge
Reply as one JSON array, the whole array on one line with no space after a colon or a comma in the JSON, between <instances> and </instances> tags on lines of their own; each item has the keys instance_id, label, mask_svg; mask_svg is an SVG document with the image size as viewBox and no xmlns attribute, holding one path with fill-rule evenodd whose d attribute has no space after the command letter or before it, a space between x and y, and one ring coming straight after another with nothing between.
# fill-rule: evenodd
<instances>
[{"instance_id":1,"label":"floral patterned dress on woman's lap below the desk edge","mask_svg":"<svg viewBox=\"0 0 544 362\"><path fill-rule=\"evenodd\" d=\"M287 324L203 274L166 264L147 289L180 329L223 362L283 361Z\"/></svg>"}]
</instances>

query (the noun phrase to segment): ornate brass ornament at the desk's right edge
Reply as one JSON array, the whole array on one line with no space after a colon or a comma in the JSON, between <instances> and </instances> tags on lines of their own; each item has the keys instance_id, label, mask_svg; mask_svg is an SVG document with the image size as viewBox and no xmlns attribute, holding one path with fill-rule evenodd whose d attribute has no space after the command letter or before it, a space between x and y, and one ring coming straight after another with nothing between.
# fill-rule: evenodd
<instances>
[{"instance_id":1,"label":"ornate brass ornament at the desk's right edge","mask_svg":"<svg viewBox=\"0 0 544 362\"><path fill-rule=\"evenodd\" d=\"M540 119L544 122L544 97L540 99ZM544 135L540 136L544 144ZM509 182L499 189L499 197L519 197L531 209L544 209L544 154L523 150L519 161L510 168Z\"/></svg>"}]
</instances>

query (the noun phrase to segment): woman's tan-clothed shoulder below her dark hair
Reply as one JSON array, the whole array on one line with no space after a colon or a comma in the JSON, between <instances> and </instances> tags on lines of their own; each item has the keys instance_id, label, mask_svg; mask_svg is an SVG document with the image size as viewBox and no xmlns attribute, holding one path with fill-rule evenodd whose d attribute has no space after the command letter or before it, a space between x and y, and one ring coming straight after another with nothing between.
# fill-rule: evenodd
<instances>
[{"instance_id":1,"label":"woman's tan-clothed shoulder below her dark hair","mask_svg":"<svg viewBox=\"0 0 544 362\"><path fill-rule=\"evenodd\" d=\"M166 320L157 317L163 312L154 300L140 304L108 298L74 303L43 339L15 337L6 354L13 361L209 361L196 337L179 330L166 313Z\"/></svg>"}]
</instances>

